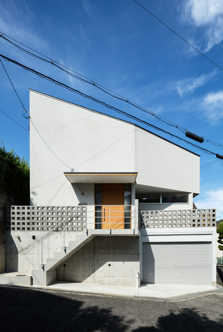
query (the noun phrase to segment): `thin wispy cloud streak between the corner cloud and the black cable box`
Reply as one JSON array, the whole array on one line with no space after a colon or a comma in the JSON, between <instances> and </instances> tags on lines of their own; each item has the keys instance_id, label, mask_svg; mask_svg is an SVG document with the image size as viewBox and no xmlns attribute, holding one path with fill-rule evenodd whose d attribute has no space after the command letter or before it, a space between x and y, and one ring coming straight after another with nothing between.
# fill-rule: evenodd
<instances>
[{"instance_id":1,"label":"thin wispy cloud streak between the corner cloud and the black cable box","mask_svg":"<svg viewBox=\"0 0 223 332\"><path fill-rule=\"evenodd\" d=\"M174 87L177 89L180 97L183 97L184 95L191 95L197 88L205 85L215 74L216 71L213 70L210 74L202 74L199 77L184 78L177 81L174 84Z\"/></svg>"}]
</instances>

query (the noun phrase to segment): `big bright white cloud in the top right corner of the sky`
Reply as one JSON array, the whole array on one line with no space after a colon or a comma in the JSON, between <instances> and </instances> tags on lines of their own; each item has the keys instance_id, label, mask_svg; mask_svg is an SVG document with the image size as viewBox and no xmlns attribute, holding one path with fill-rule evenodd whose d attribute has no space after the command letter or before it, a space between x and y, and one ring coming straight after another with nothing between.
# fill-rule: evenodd
<instances>
[{"instance_id":1,"label":"big bright white cloud in the top right corner of the sky","mask_svg":"<svg viewBox=\"0 0 223 332\"><path fill-rule=\"evenodd\" d=\"M184 20L196 27L205 27L205 52L223 40L222 0L187 0L183 11Z\"/></svg>"}]
</instances>

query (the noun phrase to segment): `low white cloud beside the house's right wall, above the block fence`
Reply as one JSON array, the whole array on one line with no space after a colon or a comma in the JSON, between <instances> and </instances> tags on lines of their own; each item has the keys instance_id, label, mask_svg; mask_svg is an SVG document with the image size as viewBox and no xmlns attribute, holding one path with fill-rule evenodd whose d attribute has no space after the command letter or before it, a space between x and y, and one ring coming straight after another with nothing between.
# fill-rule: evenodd
<instances>
[{"instance_id":1,"label":"low white cloud beside the house's right wall, above the block fence","mask_svg":"<svg viewBox=\"0 0 223 332\"><path fill-rule=\"evenodd\" d=\"M217 220L223 218L223 188L210 190L204 194L207 198L195 201L197 208L216 208Z\"/></svg>"}]
</instances>

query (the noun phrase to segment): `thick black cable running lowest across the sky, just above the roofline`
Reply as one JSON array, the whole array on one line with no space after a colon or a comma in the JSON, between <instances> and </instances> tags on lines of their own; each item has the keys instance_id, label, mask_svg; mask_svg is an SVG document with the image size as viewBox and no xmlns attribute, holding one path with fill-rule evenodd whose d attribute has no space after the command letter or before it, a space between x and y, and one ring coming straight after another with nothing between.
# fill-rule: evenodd
<instances>
[{"instance_id":1,"label":"thick black cable running lowest across the sky, just above the roofline","mask_svg":"<svg viewBox=\"0 0 223 332\"><path fill-rule=\"evenodd\" d=\"M96 98L93 98L92 96L88 96L88 95L86 95L85 93L83 93L83 92L81 92L81 91L78 91L78 90L76 90L76 89L74 89L74 88L72 88L72 87L70 87L70 86L68 86L68 85L66 85L66 84L64 84L64 83L61 83L61 82L59 82L59 81L57 81L57 80L54 80L53 78L51 78L51 77L49 77L49 76L46 76L46 75L44 75L44 74L42 74L42 73L39 73L38 71L36 71L36 70L34 70L34 69L32 69L32 68L29 68L29 67L27 67L27 66L25 66L25 65L23 65L23 64L21 64L21 63L19 63L19 62L17 62L16 60L12 60L12 59L10 59L10 58L8 58L8 57L2 55L2 54L0 54L0 56L1 56L3 59L5 59L6 61L10 61L10 62L12 62L12 63L14 63L14 64L20 66L20 67L23 68L23 69L26 69L26 70L28 70L28 71L30 71L30 72L32 72L32 73L34 73L34 74L36 74L36 75L42 77L42 78L47 79L47 80L50 81L50 82L55 83L56 85L59 85L59 86L65 88L65 89L68 89L69 91L75 92L75 93L77 93L77 94L79 94L79 95L81 95L81 96L83 96L83 97L85 97L85 98L88 98L88 99L90 99L90 100L92 100L92 101L94 101L94 102L96 102L96 103L99 103L99 104L101 104L101 105L103 105L103 106L105 106L105 107L107 107L107 108L109 108L109 109L111 109L111 110L114 110L115 112L118 112L118 113L120 113L120 114L123 114L124 116L126 116L126 117L128 117L128 118L131 118L131 119L133 119L133 120L135 120L135 121L137 121L137 122L139 122L139 123L145 124L145 125L147 125L147 126L149 126L149 127L152 127L152 128L154 128L154 129L156 129L156 130L162 131L163 133L166 133L166 134L168 134L168 135L171 135L172 137L175 137L175 138L177 138L177 139L179 139L179 140L181 140L181 141L184 141L184 142L186 142L187 144L190 144L190 145L194 146L194 147L197 148L198 150L203 151L204 153L212 154L212 155L216 155L216 156L217 156L217 155L220 156L219 154L216 154L216 153L214 153L214 152L212 152L212 151L209 151L209 150L207 150L207 149L204 149L204 148L202 148L202 147L200 147L200 146L198 146L198 145L196 145L196 144L194 144L194 143L192 143L192 142L187 141L187 140L184 139L184 138L181 138L181 137L179 137L179 136L176 136L176 135L174 135L174 134L172 134L172 133L170 133L170 132L168 132L168 131L166 131L166 130L164 130L164 129L162 129L162 128L159 128L159 127L157 127L157 126L155 126L155 125L153 125L153 124L150 124L150 123L148 123L148 122L146 122L146 121L144 121L144 120L141 120L141 119L139 119L139 118L137 118L137 117L135 117L135 116L133 116L133 115L130 115L130 114L124 112L124 111L121 111L121 110L117 109L117 108L114 107L114 106L111 106L111 105L109 105L109 104L106 104L106 103L103 102L103 101L100 101L100 100L98 100L98 99L96 99ZM223 157L222 157L222 158L223 158Z\"/></svg>"}]
</instances>

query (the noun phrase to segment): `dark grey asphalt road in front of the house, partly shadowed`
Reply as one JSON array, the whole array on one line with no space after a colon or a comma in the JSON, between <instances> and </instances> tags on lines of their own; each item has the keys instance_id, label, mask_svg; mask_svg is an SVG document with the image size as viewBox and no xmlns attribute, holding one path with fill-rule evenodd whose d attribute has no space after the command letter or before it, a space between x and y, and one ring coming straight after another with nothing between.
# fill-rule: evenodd
<instances>
[{"instance_id":1,"label":"dark grey asphalt road in front of the house, partly shadowed","mask_svg":"<svg viewBox=\"0 0 223 332\"><path fill-rule=\"evenodd\" d=\"M0 287L0 331L222 332L223 295L178 302Z\"/></svg>"}]
</instances>

